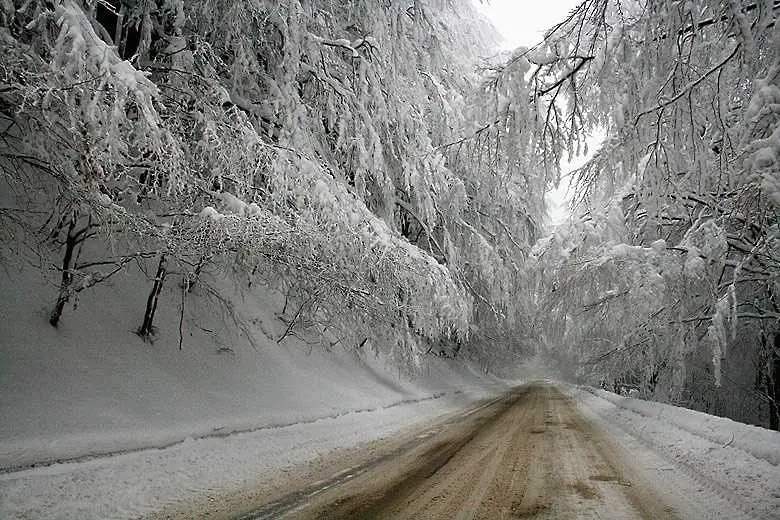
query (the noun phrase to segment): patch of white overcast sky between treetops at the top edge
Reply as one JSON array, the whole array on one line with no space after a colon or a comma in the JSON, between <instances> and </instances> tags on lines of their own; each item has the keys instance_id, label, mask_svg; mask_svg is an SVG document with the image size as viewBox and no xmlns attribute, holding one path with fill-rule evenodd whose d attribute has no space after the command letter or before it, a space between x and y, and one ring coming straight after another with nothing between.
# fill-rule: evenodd
<instances>
[{"instance_id":1,"label":"patch of white overcast sky between treetops at the top edge","mask_svg":"<svg viewBox=\"0 0 780 520\"><path fill-rule=\"evenodd\" d=\"M490 0L477 9L490 18L506 38L507 48L539 43L544 31L563 20L582 0Z\"/></svg>"}]
</instances>

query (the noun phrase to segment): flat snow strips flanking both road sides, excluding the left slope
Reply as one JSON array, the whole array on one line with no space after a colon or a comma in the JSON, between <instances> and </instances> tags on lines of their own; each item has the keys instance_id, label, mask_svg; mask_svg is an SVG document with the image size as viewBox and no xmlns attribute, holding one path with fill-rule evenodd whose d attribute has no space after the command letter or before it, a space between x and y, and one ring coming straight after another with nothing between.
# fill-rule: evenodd
<instances>
[{"instance_id":1,"label":"flat snow strips flanking both road sides, excluding the left slope","mask_svg":"<svg viewBox=\"0 0 780 520\"><path fill-rule=\"evenodd\" d=\"M492 389L499 388L495 383ZM645 473L641 478L657 481L657 488L666 491L663 498L686 518L706 518L727 508L741 509L743 518L780 514L780 434L600 390L570 387L569 393L589 419L611 430L631 453ZM455 394L5 473L0 475L0 517L137 518L176 503L267 486L319 455L392 435L474 397ZM701 509L702 504L713 509Z\"/></svg>"}]
</instances>

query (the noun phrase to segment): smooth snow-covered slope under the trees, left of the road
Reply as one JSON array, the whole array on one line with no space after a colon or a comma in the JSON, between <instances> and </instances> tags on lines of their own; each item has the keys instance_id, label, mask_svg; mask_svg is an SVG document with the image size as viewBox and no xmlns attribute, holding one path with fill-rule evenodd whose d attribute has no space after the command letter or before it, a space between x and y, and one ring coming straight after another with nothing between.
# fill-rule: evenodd
<instances>
[{"instance_id":1,"label":"smooth snow-covered slope under the trees, left of the road","mask_svg":"<svg viewBox=\"0 0 780 520\"><path fill-rule=\"evenodd\" d=\"M218 304L189 298L180 351L181 293L168 283L158 334L145 343L133 333L151 288L139 272L81 293L57 329L47 323L53 285L25 268L0 273L0 469L477 395L495 383L450 360L428 359L411 377L373 353L293 336L279 345L284 302L270 293L233 295L254 345Z\"/></svg>"}]
</instances>

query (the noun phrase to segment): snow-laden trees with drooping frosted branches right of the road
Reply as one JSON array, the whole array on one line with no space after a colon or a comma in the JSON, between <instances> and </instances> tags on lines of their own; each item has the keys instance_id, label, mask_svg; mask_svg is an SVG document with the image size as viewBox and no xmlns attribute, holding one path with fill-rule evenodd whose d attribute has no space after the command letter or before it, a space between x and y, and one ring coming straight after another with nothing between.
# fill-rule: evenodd
<instances>
[{"instance_id":1,"label":"snow-laden trees with drooping frosted branches right of the road","mask_svg":"<svg viewBox=\"0 0 780 520\"><path fill-rule=\"evenodd\" d=\"M594 378L773 428L778 15L771 0L587 0L496 80L530 71L553 161L606 133L574 174L577 217L538 249L542 330L560 336L545 343Z\"/></svg>"}]
</instances>

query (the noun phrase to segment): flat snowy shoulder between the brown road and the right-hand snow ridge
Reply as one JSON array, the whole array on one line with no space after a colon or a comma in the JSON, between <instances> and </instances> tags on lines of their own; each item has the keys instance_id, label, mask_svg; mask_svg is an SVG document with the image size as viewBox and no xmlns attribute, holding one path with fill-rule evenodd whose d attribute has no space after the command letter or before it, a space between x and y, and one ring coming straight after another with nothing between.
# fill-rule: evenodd
<instances>
[{"instance_id":1,"label":"flat snowy shoulder between the brown road and the right-hand snow ridge","mask_svg":"<svg viewBox=\"0 0 780 520\"><path fill-rule=\"evenodd\" d=\"M663 496L681 518L780 517L777 466L733 443L716 443L686 431L671 418L642 415L587 389L563 388L581 413L614 439L618 456L631 462L636 478L652 486L652 492ZM665 405L648 402L648 406Z\"/></svg>"}]
</instances>

